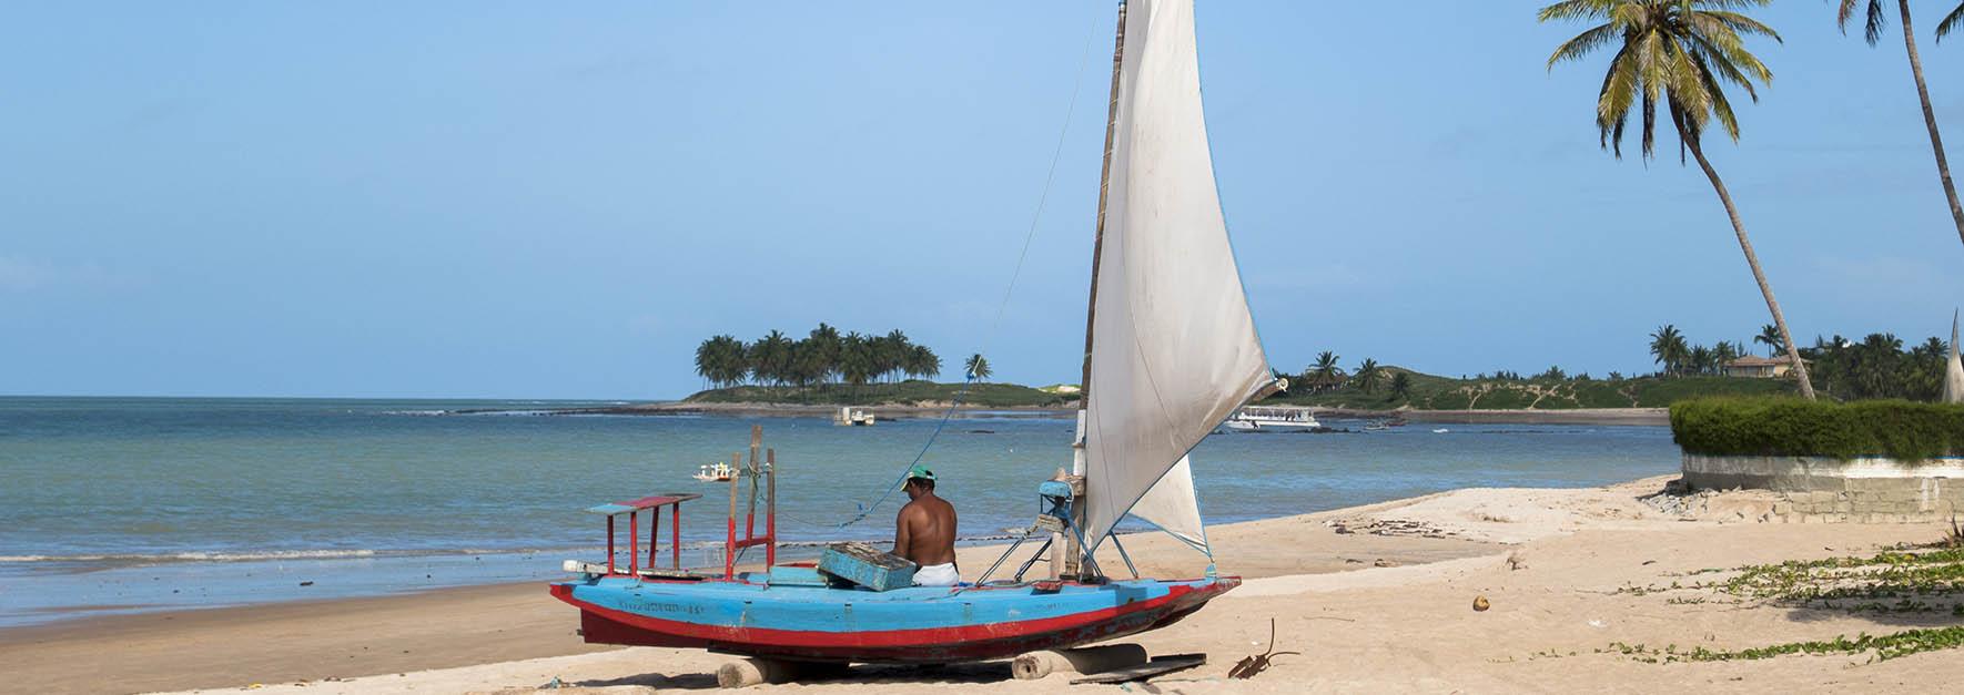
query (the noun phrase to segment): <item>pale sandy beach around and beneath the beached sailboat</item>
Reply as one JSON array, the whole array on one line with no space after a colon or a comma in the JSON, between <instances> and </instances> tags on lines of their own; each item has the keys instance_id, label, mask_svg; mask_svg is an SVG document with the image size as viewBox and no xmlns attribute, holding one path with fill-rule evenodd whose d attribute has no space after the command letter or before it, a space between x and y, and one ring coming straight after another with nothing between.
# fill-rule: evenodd
<instances>
[{"instance_id":1,"label":"pale sandy beach around and beneath the beached sailboat","mask_svg":"<svg viewBox=\"0 0 1964 695\"><path fill-rule=\"evenodd\" d=\"M1135 636L1153 654L1210 664L1133 689L1296 691L1938 691L1964 679L1964 652L1866 664L1848 656L1644 664L1599 654L1612 642L1750 648L1836 634L1956 624L1942 615L1850 615L1717 601L1687 575L1781 560L1862 556L1935 540L1937 524L1779 524L1768 501L1728 493L1650 501L1667 479L1607 489L1467 489L1347 510L1218 526L1220 565L1251 577L1178 626ZM1188 569L1145 538L1149 573ZM982 567L988 550L968 550ZM1186 573L1186 571L1182 571ZM1491 611L1475 613L1473 597ZM1699 599L1715 599L1699 603ZM1281 656L1251 681L1228 668L1261 652L1269 618ZM281 693L530 691L558 679L585 691L713 689L725 660L691 650L595 650L577 616L540 585L416 597L88 618L0 632L0 691L120 693L265 683ZM1550 656L1555 654L1555 656ZM1573 654L1573 656L1571 656ZM336 677L336 681L328 681ZM304 685L302 685L304 681ZM1013 681L1004 664L854 668L845 681L790 691L1116 691L1068 677Z\"/></svg>"}]
</instances>

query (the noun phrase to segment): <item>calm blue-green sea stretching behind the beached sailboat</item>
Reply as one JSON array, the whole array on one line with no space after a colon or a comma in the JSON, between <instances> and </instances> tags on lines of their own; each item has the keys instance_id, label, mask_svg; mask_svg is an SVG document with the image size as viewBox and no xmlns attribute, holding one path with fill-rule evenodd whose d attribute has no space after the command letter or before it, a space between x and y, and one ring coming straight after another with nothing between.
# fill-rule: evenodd
<instances>
[{"instance_id":1,"label":"calm blue-green sea stretching behind the beached sailboat","mask_svg":"<svg viewBox=\"0 0 1964 695\"><path fill-rule=\"evenodd\" d=\"M939 422L540 414L591 404L0 397L0 626L550 579L560 560L603 556L605 526L585 507L648 493L705 493L683 505L683 530L707 546L727 487L689 475L746 448L750 424L778 450L788 540L890 538L894 499L839 524ZM1432 428L1218 434L1194 452L1202 508L1233 522L1677 469L1665 428ZM1035 485L1070 463L1068 444L1068 420L970 416L947 424L925 463L962 534L998 536L1029 522ZM707 548L683 560L721 563Z\"/></svg>"}]
</instances>

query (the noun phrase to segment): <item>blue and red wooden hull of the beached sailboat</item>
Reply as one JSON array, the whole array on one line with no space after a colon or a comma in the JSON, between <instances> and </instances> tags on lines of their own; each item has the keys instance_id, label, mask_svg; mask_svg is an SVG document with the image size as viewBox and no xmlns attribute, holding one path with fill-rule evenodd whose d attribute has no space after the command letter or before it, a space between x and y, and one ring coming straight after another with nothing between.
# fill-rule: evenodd
<instances>
[{"instance_id":1,"label":"blue and red wooden hull of the beached sailboat","mask_svg":"<svg viewBox=\"0 0 1964 695\"><path fill-rule=\"evenodd\" d=\"M1192 581L896 591L774 587L750 581L634 581L552 585L579 607L597 644L856 664L955 664L1080 646L1173 624L1237 587Z\"/></svg>"}]
</instances>

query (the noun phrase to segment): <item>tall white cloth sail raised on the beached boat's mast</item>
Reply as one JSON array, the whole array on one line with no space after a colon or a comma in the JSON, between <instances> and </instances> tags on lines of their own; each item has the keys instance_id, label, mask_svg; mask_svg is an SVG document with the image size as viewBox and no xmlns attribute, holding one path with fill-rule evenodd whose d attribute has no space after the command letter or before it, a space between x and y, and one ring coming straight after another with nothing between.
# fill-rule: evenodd
<instances>
[{"instance_id":1,"label":"tall white cloth sail raised on the beached boat's mast","mask_svg":"<svg viewBox=\"0 0 1964 695\"><path fill-rule=\"evenodd\" d=\"M1214 188L1194 4L1131 0L1123 31L1092 304L1086 552L1271 383ZM1159 495L1186 507L1153 505L1153 522L1198 530L1190 473Z\"/></svg>"}]
</instances>

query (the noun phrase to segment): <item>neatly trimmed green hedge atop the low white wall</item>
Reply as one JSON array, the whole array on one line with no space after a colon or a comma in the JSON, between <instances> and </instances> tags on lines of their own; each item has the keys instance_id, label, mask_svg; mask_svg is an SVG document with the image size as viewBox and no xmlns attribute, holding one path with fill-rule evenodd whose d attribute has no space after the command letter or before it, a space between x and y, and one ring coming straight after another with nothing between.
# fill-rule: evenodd
<instances>
[{"instance_id":1,"label":"neatly trimmed green hedge atop the low white wall","mask_svg":"<svg viewBox=\"0 0 1964 695\"><path fill-rule=\"evenodd\" d=\"M1695 399L1671 404L1671 440L1705 455L1964 455L1964 404Z\"/></svg>"}]
</instances>

